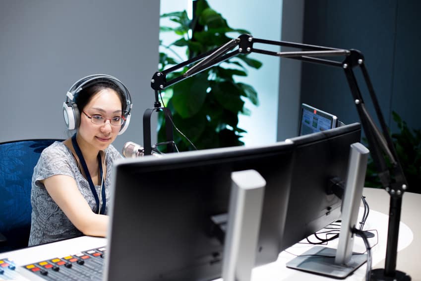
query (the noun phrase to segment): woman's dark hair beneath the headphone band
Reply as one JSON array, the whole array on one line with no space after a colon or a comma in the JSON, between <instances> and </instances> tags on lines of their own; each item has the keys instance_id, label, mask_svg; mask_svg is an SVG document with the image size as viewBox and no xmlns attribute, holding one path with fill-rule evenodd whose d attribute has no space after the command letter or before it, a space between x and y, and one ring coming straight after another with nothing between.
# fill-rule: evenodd
<instances>
[{"instance_id":1,"label":"woman's dark hair beneath the headphone band","mask_svg":"<svg viewBox=\"0 0 421 281\"><path fill-rule=\"evenodd\" d=\"M85 106L89 103L89 101L92 99L92 97L95 94L97 94L98 92L104 89L112 89L117 92L120 98L120 102L121 102L121 112L124 113L124 111L127 110L126 97L119 86L108 81L97 82L91 86L83 88L77 94L75 103L77 105L77 108L79 109L79 113L82 113L82 110L85 108Z\"/></svg>"}]
</instances>

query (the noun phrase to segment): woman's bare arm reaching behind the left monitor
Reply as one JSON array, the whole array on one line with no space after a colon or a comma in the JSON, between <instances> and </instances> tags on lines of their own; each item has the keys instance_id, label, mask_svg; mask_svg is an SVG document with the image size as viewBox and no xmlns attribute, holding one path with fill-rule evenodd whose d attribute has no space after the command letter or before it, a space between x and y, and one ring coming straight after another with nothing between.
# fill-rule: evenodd
<instances>
[{"instance_id":1,"label":"woman's bare arm reaching behind the left monitor","mask_svg":"<svg viewBox=\"0 0 421 281\"><path fill-rule=\"evenodd\" d=\"M55 175L45 179L44 185L54 202L83 234L107 235L109 216L91 210L72 177Z\"/></svg>"}]
</instances>

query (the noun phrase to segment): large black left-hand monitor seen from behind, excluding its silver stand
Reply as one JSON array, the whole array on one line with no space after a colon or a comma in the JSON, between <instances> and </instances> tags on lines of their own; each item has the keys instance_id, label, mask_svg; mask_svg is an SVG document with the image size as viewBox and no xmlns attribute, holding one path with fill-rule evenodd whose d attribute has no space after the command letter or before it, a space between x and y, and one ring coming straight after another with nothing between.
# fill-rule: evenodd
<instances>
[{"instance_id":1,"label":"large black left-hand monitor seen from behind, excluding its silver stand","mask_svg":"<svg viewBox=\"0 0 421 281\"><path fill-rule=\"evenodd\" d=\"M113 170L107 280L212 280L221 276L231 173L266 181L256 265L279 255L293 146L228 147L121 159Z\"/></svg>"}]
</instances>

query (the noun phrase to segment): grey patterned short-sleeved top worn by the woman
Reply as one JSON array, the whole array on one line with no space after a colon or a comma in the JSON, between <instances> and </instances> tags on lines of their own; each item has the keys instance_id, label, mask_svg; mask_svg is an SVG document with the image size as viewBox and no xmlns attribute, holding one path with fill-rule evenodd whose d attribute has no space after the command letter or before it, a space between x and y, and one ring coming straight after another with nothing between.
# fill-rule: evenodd
<instances>
[{"instance_id":1,"label":"grey patterned short-sleeved top worn by the woman","mask_svg":"<svg viewBox=\"0 0 421 281\"><path fill-rule=\"evenodd\" d=\"M110 171L112 170L112 163L115 159L121 158L122 156L111 144L105 151L107 175L104 188L107 200L105 213L107 214L110 203ZM43 150L32 175L32 218L29 246L82 235L82 232L70 222L64 212L53 201L44 184L40 182L54 175L68 175L74 178L80 193L86 199L92 211L96 209L95 198L89 188L89 183L80 173L73 154L64 143L59 141L54 142ZM100 186L95 186L97 194L100 194L100 188Z\"/></svg>"}]
</instances>

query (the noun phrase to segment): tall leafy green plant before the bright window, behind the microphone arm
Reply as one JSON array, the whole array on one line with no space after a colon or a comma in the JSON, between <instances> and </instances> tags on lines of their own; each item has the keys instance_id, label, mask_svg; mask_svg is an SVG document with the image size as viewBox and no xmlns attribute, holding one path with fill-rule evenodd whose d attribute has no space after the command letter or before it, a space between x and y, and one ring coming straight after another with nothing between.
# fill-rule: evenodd
<instances>
[{"instance_id":1,"label":"tall leafy green plant before the bright window, behind the microphone arm","mask_svg":"<svg viewBox=\"0 0 421 281\"><path fill-rule=\"evenodd\" d=\"M182 62L173 50L174 46L184 47L187 57L194 58L231 40L228 33L249 33L231 28L206 0L196 0L193 4L191 20L185 10L161 15L176 23L175 27L162 26L161 32L173 32L179 39L169 46L164 46L161 41L165 51L160 52L160 71ZM162 92L161 98L173 114L177 131L185 135L177 132L174 135L180 151L244 144L241 137L246 131L238 127L238 115L250 114L244 107L244 99L258 105L258 98L252 86L235 81L235 76L246 76L247 67L258 69L261 65L259 61L244 55L236 56ZM185 70L168 73L167 81L180 76ZM160 113L158 142L166 141L165 126L164 115Z\"/></svg>"}]
</instances>

